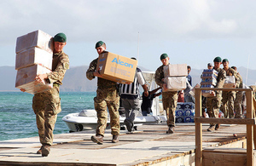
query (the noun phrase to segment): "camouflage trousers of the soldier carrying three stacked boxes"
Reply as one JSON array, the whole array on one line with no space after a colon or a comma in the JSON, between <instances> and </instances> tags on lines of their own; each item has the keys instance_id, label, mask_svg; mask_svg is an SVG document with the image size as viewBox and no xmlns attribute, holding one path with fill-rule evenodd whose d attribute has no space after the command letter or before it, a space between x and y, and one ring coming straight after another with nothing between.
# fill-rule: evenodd
<instances>
[{"instance_id":1,"label":"camouflage trousers of the soldier carrying three stacked boxes","mask_svg":"<svg viewBox=\"0 0 256 166\"><path fill-rule=\"evenodd\" d=\"M36 114L38 135L40 143L53 143L53 130L57 113L61 112L61 98L59 97L59 87L54 87L49 91L34 94L32 108Z\"/></svg>"}]
</instances>

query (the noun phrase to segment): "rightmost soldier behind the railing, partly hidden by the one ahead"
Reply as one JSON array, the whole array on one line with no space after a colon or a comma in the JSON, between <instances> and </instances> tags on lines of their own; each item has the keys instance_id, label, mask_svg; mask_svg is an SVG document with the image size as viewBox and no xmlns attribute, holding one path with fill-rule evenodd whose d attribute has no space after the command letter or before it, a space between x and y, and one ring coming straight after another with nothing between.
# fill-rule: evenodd
<instances>
[{"instance_id":1,"label":"rightmost soldier behind the railing, partly hidden by the one ahead","mask_svg":"<svg viewBox=\"0 0 256 166\"><path fill-rule=\"evenodd\" d=\"M242 77L239 74L239 72L237 72L237 68L236 66L232 66L232 69L234 69L237 73L237 77L239 78L239 85L236 87L238 89L242 89ZM234 112L235 112L235 118L241 118L241 102L242 102L242 96L243 96L244 92L243 91L237 91L236 92L236 99L234 102Z\"/></svg>"}]
</instances>

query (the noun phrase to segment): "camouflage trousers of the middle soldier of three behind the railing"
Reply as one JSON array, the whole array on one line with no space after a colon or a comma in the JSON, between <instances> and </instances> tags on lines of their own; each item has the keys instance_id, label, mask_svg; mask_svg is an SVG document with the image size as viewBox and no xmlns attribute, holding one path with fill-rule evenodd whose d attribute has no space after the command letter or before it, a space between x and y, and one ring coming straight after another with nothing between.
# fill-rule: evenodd
<instances>
[{"instance_id":1,"label":"camouflage trousers of the middle soldier of three behind the railing","mask_svg":"<svg viewBox=\"0 0 256 166\"><path fill-rule=\"evenodd\" d=\"M222 106L220 110L224 113L224 117L234 117L234 100L236 98L235 91L223 91Z\"/></svg>"}]
</instances>

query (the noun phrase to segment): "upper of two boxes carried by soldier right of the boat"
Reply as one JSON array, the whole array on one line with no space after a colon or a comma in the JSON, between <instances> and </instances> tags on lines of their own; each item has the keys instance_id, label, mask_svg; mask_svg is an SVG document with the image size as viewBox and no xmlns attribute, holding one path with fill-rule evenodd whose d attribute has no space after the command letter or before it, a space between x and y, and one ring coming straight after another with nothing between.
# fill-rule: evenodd
<instances>
[{"instance_id":1,"label":"upper of two boxes carried by soldier right of the boat","mask_svg":"<svg viewBox=\"0 0 256 166\"><path fill-rule=\"evenodd\" d=\"M164 66L164 76L188 76L187 64L169 64Z\"/></svg>"}]
</instances>

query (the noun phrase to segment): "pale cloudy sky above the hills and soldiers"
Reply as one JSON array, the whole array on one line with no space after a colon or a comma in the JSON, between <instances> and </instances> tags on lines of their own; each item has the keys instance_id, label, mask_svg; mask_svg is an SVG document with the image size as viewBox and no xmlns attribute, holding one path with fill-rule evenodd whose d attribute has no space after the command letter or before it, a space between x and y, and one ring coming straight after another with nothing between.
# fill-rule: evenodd
<instances>
[{"instance_id":1,"label":"pale cloudy sky above the hills and soldiers","mask_svg":"<svg viewBox=\"0 0 256 166\"><path fill-rule=\"evenodd\" d=\"M67 35L70 66L89 66L95 44L136 57L155 71L160 54L172 64L207 68L216 56L256 69L256 1L0 0L0 66L15 66L17 37L42 30Z\"/></svg>"}]
</instances>

